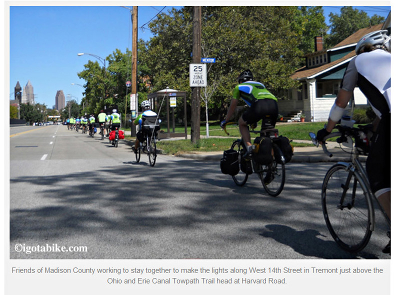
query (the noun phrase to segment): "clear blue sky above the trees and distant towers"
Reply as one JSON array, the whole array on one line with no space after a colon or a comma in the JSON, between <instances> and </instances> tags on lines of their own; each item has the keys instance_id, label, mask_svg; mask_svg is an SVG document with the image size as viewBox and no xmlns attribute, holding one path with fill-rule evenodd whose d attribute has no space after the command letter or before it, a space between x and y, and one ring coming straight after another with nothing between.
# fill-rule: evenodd
<instances>
[{"instance_id":1,"label":"clear blue sky above the trees and distant towers","mask_svg":"<svg viewBox=\"0 0 400 295\"><path fill-rule=\"evenodd\" d=\"M115 48L123 52L126 48L131 49L130 11L126 8L33 6L34 1L31 5L9 7L9 80L6 76L5 85L9 84L11 99L16 82L19 81L23 88L30 80L35 102L51 108L55 104L57 90L63 90L65 96L71 94L72 99L80 101L83 88L77 84L83 85L85 81L78 78L77 72L83 70L89 59L97 59L90 55L78 56L77 53L91 53L105 58ZM167 12L171 7L138 6L138 38L149 39L151 33L145 24L159 10ZM325 21L329 20L329 12L339 14L340 7L324 6ZM368 15L376 13L384 17L390 10L390 6L353 7L364 10ZM144 28L140 28L142 26ZM7 44L7 35L5 41ZM7 51L5 53L7 57ZM6 58L5 66L7 64Z\"/></svg>"}]
</instances>

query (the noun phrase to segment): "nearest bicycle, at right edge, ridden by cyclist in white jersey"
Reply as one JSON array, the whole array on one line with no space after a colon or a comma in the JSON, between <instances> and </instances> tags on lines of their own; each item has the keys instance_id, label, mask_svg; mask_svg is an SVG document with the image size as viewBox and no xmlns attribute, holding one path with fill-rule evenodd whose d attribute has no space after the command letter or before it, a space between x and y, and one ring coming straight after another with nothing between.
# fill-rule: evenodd
<instances>
[{"instance_id":1,"label":"nearest bicycle, at right edge, ridden by cyclist in white jersey","mask_svg":"<svg viewBox=\"0 0 400 295\"><path fill-rule=\"evenodd\" d=\"M373 201L378 204L390 228L390 219L372 192L365 169L359 155L367 155L368 136L371 125L357 127L336 125L337 132L331 132L322 142L323 151L332 156L326 148L325 140L338 137L336 142L350 148L350 161L337 162L325 174L322 182L321 201L326 226L335 242L348 252L358 252L368 243L375 224ZM309 133L318 146L316 135ZM354 140L353 140L354 138ZM347 151L348 152L348 151Z\"/></svg>"}]
</instances>

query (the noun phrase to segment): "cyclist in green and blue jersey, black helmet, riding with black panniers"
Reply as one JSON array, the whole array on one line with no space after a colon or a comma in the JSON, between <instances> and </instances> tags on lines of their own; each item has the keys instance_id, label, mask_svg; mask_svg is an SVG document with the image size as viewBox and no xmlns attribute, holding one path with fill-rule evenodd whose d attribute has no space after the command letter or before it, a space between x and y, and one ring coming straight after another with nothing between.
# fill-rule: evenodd
<instances>
[{"instance_id":1,"label":"cyclist in green and blue jersey, black helmet, riding with black panniers","mask_svg":"<svg viewBox=\"0 0 400 295\"><path fill-rule=\"evenodd\" d=\"M249 106L240 116L238 124L239 131L243 141L247 146L247 153L251 152L250 132L248 125L257 123L259 120L266 119L270 127L275 127L276 118L278 116L278 105L276 97L269 92L265 86L253 81L253 74L249 69L242 71L237 77L238 85L233 89L233 97L226 113L225 119L220 123L223 128L227 121L233 116L239 98Z\"/></svg>"}]
</instances>

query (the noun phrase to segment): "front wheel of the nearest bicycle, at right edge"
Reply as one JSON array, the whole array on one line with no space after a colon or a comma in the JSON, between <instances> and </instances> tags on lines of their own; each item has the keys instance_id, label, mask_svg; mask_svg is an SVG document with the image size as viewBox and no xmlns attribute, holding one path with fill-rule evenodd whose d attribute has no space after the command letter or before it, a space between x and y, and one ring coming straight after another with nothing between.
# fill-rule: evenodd
<instances>
[{"instance_id":1,"label":"front wheel of the nearest bicycle, at right edge","mask_svg":"<svg viewBox=\"0 0 400 295\"><path fill-rule=\"evenodd\" d=\"M371 236L373 208L369 193L357 172L344 164L327 171L322 184L322 210L336 243L346 251L363 249Z\"/></svg>"}]
</instances>

